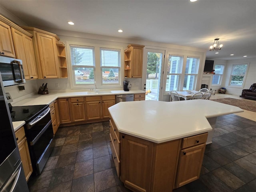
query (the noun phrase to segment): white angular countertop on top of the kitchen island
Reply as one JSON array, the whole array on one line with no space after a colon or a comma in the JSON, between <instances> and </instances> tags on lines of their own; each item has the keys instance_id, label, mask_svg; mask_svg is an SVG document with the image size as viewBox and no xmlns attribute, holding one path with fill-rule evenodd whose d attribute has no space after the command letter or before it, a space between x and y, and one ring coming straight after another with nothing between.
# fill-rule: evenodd
<instances>
[{"instance_id":1,"label":"white angular countertop on top of the kitchen island","mask_svg":"<svg viewBox=\"0 0 256 192\"><path fill-rule=\"evenodd\" d=\"M119 132L155 143L212 130L206 118L243 112L211 100L120 102L108 108Z\"/></svg>"}]
</instances>

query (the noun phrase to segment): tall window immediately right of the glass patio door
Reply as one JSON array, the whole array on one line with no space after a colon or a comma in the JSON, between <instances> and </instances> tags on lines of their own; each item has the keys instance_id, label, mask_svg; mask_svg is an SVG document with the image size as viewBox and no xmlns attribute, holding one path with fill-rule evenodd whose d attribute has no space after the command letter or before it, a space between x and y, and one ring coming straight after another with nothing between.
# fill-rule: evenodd
<instances>
[{"instance_id":1,"label":"tall window immediately right of the glass patio door","mask_svg":"<svg viewBox=\"0 0 256 192\"><path fill-rule=\"evenodd\" d=\"M183 56L169 54L165 91L178 90L182 73Z\"/></svg>"}]
</instances>

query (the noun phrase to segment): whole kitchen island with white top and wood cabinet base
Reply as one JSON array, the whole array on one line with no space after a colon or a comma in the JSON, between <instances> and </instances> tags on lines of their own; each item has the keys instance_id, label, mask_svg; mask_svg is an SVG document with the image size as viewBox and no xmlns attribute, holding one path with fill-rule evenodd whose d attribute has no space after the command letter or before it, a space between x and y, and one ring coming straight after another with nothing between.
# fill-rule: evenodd
<instances>
[{"instance_id":1,"label":"whole kitchen island with white top and wood cabinet base","mask_svg":"<svg viewBox=\"0 0 256 192\"><path fill-rule=\"evenodd\" d=\"M199 178L217 116L242 109L211 100L121 102L109 108L118 176L132 191L172 191Z\"/></svg>"}]
</instances>

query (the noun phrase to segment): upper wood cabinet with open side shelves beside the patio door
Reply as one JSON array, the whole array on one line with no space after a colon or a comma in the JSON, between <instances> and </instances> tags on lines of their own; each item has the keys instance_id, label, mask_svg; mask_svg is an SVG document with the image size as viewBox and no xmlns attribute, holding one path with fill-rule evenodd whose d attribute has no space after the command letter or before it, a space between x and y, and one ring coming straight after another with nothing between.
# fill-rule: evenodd
<instances>
[{"instance_id":1,"label":"upper wood cabinet with open side shelves beside the patio door","mask_svg":"<svg viewBox=\"0 0 256 192\"><path fill-rule=\"evenodd\" d=\"M124 50L124 77L142 78L144 45L130 44Z\"/></svg>"}]
</instances>

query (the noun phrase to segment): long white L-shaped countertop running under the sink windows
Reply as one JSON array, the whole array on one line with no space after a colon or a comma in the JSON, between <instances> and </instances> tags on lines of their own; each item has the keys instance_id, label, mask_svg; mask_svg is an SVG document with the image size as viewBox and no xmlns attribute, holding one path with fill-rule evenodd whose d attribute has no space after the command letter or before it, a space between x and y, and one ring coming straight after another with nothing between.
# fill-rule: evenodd
<instances>
[{"instance_id":1,"label":"long white L-shaped countertop running under the sink windows","mask_svg":"<svg viewBox=\"0 0 256 192\"><path fill-rule=\"evenodd\" d=\"M119 95L119 94L142 94L145 91L142 90L111 90L111 93L105 94L88 94L87 91L74 91L74 90L49 90L49 94L40 95L35 94L34 96L30 96L25 98L19 102L12 102L12 106L26 106L26 105L44 105L50 104L57 98L65 98L65 97L84 97L84 96L102 96L102 95Z\"/></svg>"}]
</instances>

